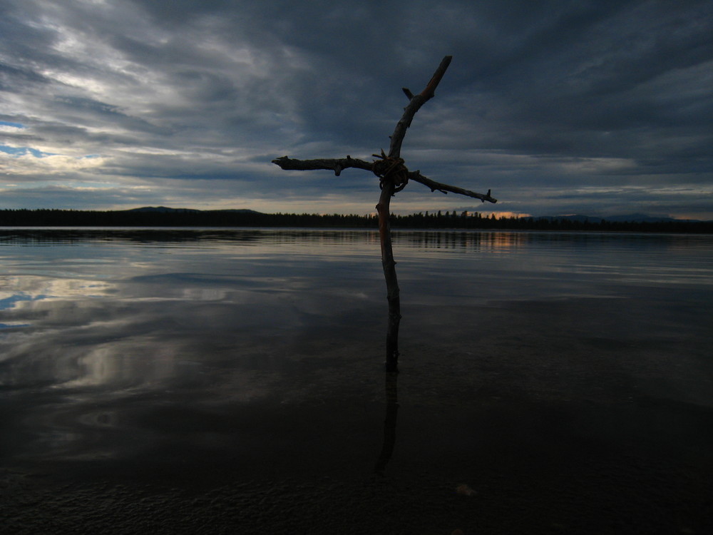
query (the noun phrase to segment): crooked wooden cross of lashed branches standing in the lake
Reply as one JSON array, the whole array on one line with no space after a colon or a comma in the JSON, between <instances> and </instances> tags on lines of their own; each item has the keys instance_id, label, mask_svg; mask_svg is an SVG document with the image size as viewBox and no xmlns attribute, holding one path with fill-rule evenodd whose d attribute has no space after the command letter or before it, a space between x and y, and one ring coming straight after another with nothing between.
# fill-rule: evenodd
<instances>
[{"instance_id":1,"label":"crooked wooden cross of lashed branches standing in the lake","mask_svg":"<svg viewBox=\"0 0 713 535\"><path fill-rule=\"evenodd\" d=\"M394 262L394 253L391 250L391 229L389 226L389 203L391 197L404 189L409 180L415 180L431 188L431 191L441 191L442 193L458 193L467 195L485 202L496 203L497 200L491 197L491 192L475 193L474 191L464 190L457 186L438 183L435 180L426 178L424 175L416 171L409 171L406 168L404 160L401 159L401 143L406 135L406 128L411 126L411 121L419 111L419 108L435 96L436 87L440 83L443 74L446 73L446 68L451 63L451 56L446 56L438 66L434 76L429 81L424 91L418 95L414 95L408 89L404 88L404 93L409 98L409 104L404 108L404 115L396 123L394 133L391 135L391 144L389 146L389 154L381 151L381 154L374 154L379 158L373 162L357 160L351 156L338 159L319 159L319 160L295 160L282 156L272 161L285 170L312 170L312 169L331 169L334 174L339 176L342 170L355 167L371 171L379 177L379 187L381 195L379 196L379 204L376 205L376 212L379 214L379 238L381 239L381 265L384 267L384 277L386 278L386 298L389 301L389 328L386 332L386 371L398 371L399 362L399 322L401 321L401 302L399 300L399 283L396 280L396 262Z\"/></svg>"}]
</instances>

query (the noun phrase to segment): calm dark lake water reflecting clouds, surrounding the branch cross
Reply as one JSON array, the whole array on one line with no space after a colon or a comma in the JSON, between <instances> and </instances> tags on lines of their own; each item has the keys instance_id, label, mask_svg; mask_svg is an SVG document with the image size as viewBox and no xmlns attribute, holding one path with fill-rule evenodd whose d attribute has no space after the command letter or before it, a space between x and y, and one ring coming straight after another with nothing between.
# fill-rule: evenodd
<instances>
[{"instance_id":1,"label":"calm dark lake water reflecting clouds, surrounding the branch cross","mask_svg":"<svg viewBox=\"0 0 713 535\"><path fill-rule=\"evenodd\" d=\"M398 379L375 232L0 229L11 532L713 527L713 236L394 255Z\"/></svg>"}]
</instances>

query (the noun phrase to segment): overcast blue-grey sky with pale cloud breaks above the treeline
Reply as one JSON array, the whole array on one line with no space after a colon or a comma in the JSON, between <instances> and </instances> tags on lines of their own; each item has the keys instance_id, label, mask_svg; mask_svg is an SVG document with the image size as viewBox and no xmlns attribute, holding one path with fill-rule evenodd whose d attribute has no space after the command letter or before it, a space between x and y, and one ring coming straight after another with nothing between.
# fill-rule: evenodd
<instances>
[{"instance_id":1,"label":"overcast blue-grey sky with pale cloud breaks above the treeline","mask_svg":"<svg viewBox=\"0 0 713 535\"><path fill-rule=\"evenodd\" d=\"M0 0L0 208L370 213L363 170L452 55L397 213L713 219L709 0Z\"/></svg>"}]
</instances>

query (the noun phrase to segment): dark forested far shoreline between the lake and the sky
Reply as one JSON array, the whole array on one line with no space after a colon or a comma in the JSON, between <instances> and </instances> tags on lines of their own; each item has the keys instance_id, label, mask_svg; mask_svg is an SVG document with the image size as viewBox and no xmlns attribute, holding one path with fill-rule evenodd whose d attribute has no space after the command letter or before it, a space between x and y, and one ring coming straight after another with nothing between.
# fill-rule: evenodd
<instances>
[{"instance_id":1,"label":"dark forested far shoreline between the lake and the sky","mask_svg":"<svg viewBox=\"0 0 713 535\"><path fill-rule=\"evenodd\" d=\"M376 215L260 213L252 210L0 210L1 227L314 227L377 228ZM607 221L566 218L496 218L446 211L392 215L393 228L590 230L713 233L710 221Z\"/></svg>"}]
</instances>

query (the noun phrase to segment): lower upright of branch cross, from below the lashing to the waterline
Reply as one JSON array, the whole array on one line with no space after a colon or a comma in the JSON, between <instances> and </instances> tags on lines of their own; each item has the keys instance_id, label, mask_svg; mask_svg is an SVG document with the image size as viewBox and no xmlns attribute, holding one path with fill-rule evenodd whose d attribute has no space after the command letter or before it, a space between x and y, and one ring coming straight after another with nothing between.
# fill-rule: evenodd
<instances>
[{"instance_id":1,"label":"lower upright of branch cross, from below the lashing to the waterline","mask_svg":"<svg viewBox=\"0 0 713 535\"><path fill-rule=\"evenodd\" d=\"M399 371L399 323L401 322L401 297L399 281L396 279L396 262L391 249L391 225L389 224L389 204L394 195L394 183L384 180L376 212L379 213L379 239L381 241L381 267L386 279L386 299L389 301L389 326L386 330L386 371Z\"/></svg>"}]
</instances>

